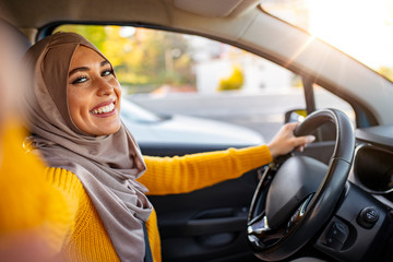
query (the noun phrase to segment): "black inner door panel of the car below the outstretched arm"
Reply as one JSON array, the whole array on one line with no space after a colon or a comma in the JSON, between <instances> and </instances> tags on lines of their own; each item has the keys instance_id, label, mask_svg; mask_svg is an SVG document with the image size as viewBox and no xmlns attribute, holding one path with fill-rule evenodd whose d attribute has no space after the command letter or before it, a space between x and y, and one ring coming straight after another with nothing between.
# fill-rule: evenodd
<instances>
[{"instance_id":1,"label":"black inner door panel of the car below the outstretched arm","mask_svg":"<svg viewBox=\"0 0 393 262\"><path fill-rule=\"evenodd\" d=\"M165 156L224 148L167 145L160 152L141 144L143 154ZM191 193L150 195L157 212L163 260L258 261L248 246L246 225L259 172L255 169Z\"/></svg>"}]
</instances>

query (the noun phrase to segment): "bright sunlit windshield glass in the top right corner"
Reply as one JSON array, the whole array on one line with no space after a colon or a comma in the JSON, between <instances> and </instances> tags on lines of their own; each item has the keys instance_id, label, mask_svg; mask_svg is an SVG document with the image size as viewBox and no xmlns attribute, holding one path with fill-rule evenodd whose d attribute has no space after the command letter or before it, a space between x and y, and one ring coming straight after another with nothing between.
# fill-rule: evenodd
<instances>
[{"instance_id":1,"label":"bright sunlit windshield glass in the top right corner","mask_svg":"<svg viewBox=\"0 0 393 262\"><path fill-rule=\"evenodd\" d=\"M393 81L393 1L262 0L261 7Z\"/></svg>"}]
</instances>

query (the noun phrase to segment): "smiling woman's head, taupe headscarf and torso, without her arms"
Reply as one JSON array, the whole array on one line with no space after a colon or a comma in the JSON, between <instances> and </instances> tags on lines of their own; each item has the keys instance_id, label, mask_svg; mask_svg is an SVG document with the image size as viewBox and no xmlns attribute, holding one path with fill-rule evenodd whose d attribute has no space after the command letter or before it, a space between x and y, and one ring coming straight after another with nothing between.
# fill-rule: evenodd
<instances>
[{"instance_id":1,"label":"smiling woman's head, taupe headscarf and torso, without her arms","mask_svg":"<svg viewBox=\"0 0 393 262\"><path fill-rule=\"evenodd\" d=\"M136 178L146 167L135 141L120 124L120 86L110 64L86 39L66 33L37 43L25 61L35 72L27 98L31 140L52 167L50 180L79 195L75 231L70 233L62 257L68 261L142 261L142 228L152 205ZM110 103L117 106L115 114L103 114L103 106ZM106 117L99 117L99 111ZM98 241L103 251L86 238ZM80 245L83 251L78 250Z\"/></svg>"}]
</instances>

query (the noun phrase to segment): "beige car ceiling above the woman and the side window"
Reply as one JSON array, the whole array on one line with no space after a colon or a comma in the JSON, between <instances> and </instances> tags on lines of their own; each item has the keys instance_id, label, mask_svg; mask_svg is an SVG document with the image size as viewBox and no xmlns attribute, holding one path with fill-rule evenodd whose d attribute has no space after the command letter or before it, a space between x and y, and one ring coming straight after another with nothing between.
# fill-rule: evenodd
<instances>
[{"instance_id":1,"label":"beige car ceiling above the woman and the side window","mask_svg":"<svg viewBox=\"0 0 393 262\"><path fill-rule=\"evenodd\" d=\"M236 41L254 19L259 0L0 0L0 15L32 40L53 22L140 23ZM104 12L103 12L104 10ZM239 20L239 16L241 17Z\"/></svg>"}]
</instances>

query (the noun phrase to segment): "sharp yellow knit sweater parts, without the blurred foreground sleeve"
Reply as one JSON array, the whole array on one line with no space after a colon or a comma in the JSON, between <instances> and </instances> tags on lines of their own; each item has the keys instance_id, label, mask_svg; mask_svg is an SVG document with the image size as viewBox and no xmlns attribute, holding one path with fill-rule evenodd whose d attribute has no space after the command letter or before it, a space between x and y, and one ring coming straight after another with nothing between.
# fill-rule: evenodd
<instances>
[{"instance_id":1,"label":"sharp yellow knit sweater parts, without the blurred foreground sleeve","mask_svg":"<svg viewBox=\"0 0 393 262\"><path fill-rule=\"evenodd\" d=\"M238 178L246 171L267 164L272 156L267 146L192 154L175 157L144 156L146 172L139 179L148 194L177 194L202 189L217 182ZM82 183L71 171L48 168L48 179L78 199L71 239L64 243L67 261L119 261L109 236ZM160 259L160 242L155 212L146 223L155 262Z\"/></svg>"}]
</instances>

